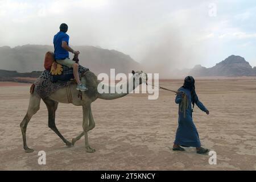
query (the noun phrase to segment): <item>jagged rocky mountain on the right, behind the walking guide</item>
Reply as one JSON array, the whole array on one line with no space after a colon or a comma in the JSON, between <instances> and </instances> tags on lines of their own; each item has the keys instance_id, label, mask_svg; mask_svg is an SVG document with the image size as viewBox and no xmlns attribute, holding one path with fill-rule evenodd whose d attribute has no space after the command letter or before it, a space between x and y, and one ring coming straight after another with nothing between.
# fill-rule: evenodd
<instances>
[{"instance_id":1,"label":"jagged rocky mountain on the right, behind the walking guide","mask_svg":"<svg viewBox=\"0 0 256 182\"><path fill-rule=\"evenodd\" d=\"M217 63L212 68L205 68L201 65L196 65L189 75L192 76L256 76L256 68L251 65L241 56L229 56L225 60Z\"/></svg>"}]
</instances>

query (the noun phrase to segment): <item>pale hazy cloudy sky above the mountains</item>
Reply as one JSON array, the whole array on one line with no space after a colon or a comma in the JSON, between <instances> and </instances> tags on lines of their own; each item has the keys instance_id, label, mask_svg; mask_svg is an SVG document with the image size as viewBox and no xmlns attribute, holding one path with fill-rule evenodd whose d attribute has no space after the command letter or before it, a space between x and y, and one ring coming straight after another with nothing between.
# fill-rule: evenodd
<instances>
[{"instance_id":1,"label":"pale hazy cloudy sky above the mountains","mask_svg":"<svg viewBox=\"0 0 256 182\"><path fill-rule=\"evenodd\" d=\"M71 45L117 49L141 63L212 67L234 54L254 67L255 12L254 0L0 0L0 46L51 45L65 22Z\"/></svg>"}]
</instances>

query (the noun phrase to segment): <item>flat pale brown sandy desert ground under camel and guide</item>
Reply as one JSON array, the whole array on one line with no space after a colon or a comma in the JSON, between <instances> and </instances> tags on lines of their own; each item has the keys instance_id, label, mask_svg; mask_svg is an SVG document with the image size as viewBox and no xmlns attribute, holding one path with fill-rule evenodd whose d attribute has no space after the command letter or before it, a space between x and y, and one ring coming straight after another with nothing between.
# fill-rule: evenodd
<instances>
[{"instance_id":1,"label":"flat pale brown sandy desert ground under camel and guide","mask_svg":"<svg viewBox=\"0 0 256 182\"><path fill-rule=\"evenodd\" d=\"M181 80L160 82L177 89ZM217 164L195 148L172 151L177 105L173 93L161 90L158 100L147 94L130 94L113 101L97 100L92 105L96 128L89 132L96 152L85 152L84 138L66 147L47 126L47 110L40 110L27 129L25 153L19 123L27 111L29 85L0 87L0 169L3 170L255 170L256 169L256 80L228 78L197 80L200 100L207 115L196 107L194 122L204 147L217 153ZM16 85L16 84L14 84ZM68 140L82 131L82 109L59 104L56 124ZM46 151L46 165L38 164L38 152Z\"/></svg>"}]
</instances>

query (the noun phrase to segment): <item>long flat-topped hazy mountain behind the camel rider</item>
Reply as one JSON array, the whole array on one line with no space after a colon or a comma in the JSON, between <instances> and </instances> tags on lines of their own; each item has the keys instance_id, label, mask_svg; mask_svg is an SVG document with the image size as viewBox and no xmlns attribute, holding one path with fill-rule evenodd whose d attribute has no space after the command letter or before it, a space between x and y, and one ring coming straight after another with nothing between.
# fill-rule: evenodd
<instances>
[{"instance_id":1,"label":"long flat-topped hazy mountain behind the camel rider","mask_svg":"<svg viewBox=\"0 0 256 182\"><path fill-rule=\"evenodd\" d=\"M110 68L115 68L116 73L130 73L133 69L141 68L129 55L119 51L93 46L72 47L80 51L80 64L96 74L110 73ZM29 44L14 48L0 47L0 69L18 72L43 71L47 51L53 51L53 47ZM72 53L69 56L73 58Z\"/></svg>"}]
</instances>

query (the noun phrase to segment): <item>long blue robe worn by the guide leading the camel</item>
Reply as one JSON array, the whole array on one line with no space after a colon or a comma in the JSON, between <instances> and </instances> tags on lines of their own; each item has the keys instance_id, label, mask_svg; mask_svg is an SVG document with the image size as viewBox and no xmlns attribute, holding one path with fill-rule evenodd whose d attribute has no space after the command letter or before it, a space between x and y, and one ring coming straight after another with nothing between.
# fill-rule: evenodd
<instances>
[{"instance_id":1,"label":"long blue robe worn by the guide leading the camel","mask_svg":"<svg viewBox=\"0 0 256 182\"><path fill-rule=\"evenodd\" d=\"M193 123L192 119L192 107L191 107L191 92L189 89L185 89L183 87L178 89L179 91L184 91L188 98L188 108L185 111L185 118L183 112L179 109L179 126L176 131L175 144L181 146L189 146L189 147L200 147L200 139L199 134L197 133L196 126ZM181 94L177 94L175 102L176 104L181 103L182 96ZM195 103L202 111L206 112L207 108L197 100ZM180 107L179 107L180 108Z\"/></svg>"}]
</instances>

